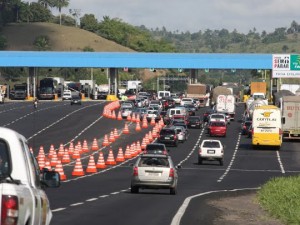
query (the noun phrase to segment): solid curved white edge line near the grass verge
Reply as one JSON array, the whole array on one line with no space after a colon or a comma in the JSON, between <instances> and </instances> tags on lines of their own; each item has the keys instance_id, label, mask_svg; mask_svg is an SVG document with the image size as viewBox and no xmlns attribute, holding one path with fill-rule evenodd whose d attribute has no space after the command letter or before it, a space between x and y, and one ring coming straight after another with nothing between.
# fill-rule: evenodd
<instances>
[{"instance_id":1,"label":"solid curved white edge line near the grass verge","mask_svg":"<svg viewBox=\"0 0 300 225\"><path fill-rule=\"evenodd\" d=\"M175 216L172 219L172 222L170 225L180 225L180 220L183 217L187 207L190 204L190 201L193 198L196 197L201 197L204 195L209 195L209 194L213 194L213 193L218 193L218 192L234 192L234 191L246 191L246 190L258 190L259 188L244 188L244 189L233 189L233 190L217 190L217 191L208 191L208 192L204 192L204 193L200 193L197 195L193 195L190 197L187 197L184 202L182 203L182 205L180 206L179 210L177 211L177 213L175 214Z\"/></svg>"}]
</instances>

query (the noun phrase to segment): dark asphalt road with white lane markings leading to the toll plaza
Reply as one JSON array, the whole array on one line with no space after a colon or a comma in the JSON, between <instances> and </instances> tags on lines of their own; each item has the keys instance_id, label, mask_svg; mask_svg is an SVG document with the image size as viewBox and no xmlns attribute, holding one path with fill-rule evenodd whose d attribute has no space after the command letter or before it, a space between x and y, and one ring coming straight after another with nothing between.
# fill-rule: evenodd
<instances>
[{"instance_id":1,"label":"dark asphalt road with white lane markings leading to the toll plaza","mask_svg":"<svg viewBox=\"0 0 300 225\"><path fill-rule=\"evenodd\" d=\"M41 102L34 110L31 102L6 102L0 105L0 126L23 134L35 155L41 146L48 153L51 144L58 149L60 144L68 147L70 142L87 140L91 146L96 138L101 145L105 134L109 135L114 128L121 132L125 124L125 121L104 118L105 104L91 101L71 106L69 102ZM243 109L243 105L237 107L236 120L230 123L227 137L216 137L225 145L224 166L217 162L197 164L198 145L203 139L211 139L203 129L190 129L187 142L169 147L175 164L182 166L178 170L175 196L168 190L141 190L139 194L131 194L130 164L135 159L83 177L71 175L74 161L65 164L67 180L57 189L46 190L53 211L51 224L212 224L216 212L208 209L203 217L200 206L210 196L223 190L258 188L272 177L298 174L299 143L284 142L280 151L252 150L251 140L240 135ZM203 112L202 108L197 114ZM150 130L149 127L136 132L135 124L129 128L130 134L121 135L108 147L101 146L105 158L109 149L116 156L119 147L125 151L127 145L141 142ZM89 151L81 156L84 170L89 156L92 154L97 159L98 153Z\"/></svg>"}]
</instances>

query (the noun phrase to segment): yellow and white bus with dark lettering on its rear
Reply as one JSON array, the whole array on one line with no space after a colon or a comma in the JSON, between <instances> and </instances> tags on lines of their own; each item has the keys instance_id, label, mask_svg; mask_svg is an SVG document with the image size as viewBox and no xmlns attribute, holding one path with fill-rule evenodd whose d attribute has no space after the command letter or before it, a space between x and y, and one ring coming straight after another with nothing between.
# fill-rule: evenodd
<instances>
[{"instance_id":1,"label":"yellow and white bus with dark lettering on its rear","mask_svg":"<svg viewBox=\"0 0 300 225\"><path fill-rule=\"evenodd\" d=\"M281 110L274 105L256 107L252 117L252 147L273 146L280 149L282 135Z\"/></svg>"}]
</instances>

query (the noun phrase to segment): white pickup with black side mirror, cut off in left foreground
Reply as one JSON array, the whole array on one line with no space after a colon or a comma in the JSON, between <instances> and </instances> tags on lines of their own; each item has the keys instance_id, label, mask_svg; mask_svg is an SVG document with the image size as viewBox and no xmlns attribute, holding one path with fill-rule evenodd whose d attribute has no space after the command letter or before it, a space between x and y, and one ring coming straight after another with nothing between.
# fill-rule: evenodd
<instances>
[{"instance_id":1,"label":"white pickup with black side mirror, cut off in left foreground","mask_svg":"<svg viewBox=\"0 0 300 225\"><path fill-rule=\"evenodd\" d=\"M59 173L40 171L21 134L0 127L0 224L49 225L52 213L44 188L59 185Z\"/></svg>"}]
</instances>

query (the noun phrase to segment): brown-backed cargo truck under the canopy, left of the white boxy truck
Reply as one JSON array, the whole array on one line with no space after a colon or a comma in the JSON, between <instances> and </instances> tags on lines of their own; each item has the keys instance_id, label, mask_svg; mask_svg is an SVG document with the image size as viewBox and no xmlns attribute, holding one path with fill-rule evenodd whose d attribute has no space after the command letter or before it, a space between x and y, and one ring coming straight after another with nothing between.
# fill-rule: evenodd
<instances>
[{"instance_id":1,"label":"brown-backed cargo truck under the canopy, left of the white boxy truck","mask_svg":"<svg viewBox=\"0 0 300 225\"><path fill-rule=\"evenodd\" d=\"M199 107L204 107L208 99L206 84L189 84L186 97L198 99Z\"/></svg>"}]
</instances>

